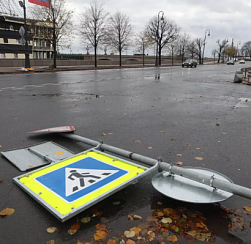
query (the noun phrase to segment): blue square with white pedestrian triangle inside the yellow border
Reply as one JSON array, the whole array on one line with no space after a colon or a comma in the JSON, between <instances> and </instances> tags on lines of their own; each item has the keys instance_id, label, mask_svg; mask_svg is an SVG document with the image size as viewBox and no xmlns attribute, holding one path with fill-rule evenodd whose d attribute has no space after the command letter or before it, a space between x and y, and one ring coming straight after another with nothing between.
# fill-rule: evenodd
<instances>
[{"instance_id":1,"label":"blue square with white pedestrian triangle inside the yellow border","mask_svg":"<svg viewBox=\"0 0 251 244\"><path fill-rule=\"evenodd\" d=\"M128 174L129 171L86 157L35 178L66 202L74 202Z\"/></svg>"}]
</instances>

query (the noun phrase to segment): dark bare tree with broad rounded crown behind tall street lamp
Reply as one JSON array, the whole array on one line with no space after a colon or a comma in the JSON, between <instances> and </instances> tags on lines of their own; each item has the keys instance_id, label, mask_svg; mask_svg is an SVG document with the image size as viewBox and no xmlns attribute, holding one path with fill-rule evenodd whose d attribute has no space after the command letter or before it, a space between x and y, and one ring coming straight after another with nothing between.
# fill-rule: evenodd
<instances>
[{"instance_id":1,"label":"dark bare tree with broad rounded crown behind tall street lamp","mask_svg":"<svg viewBox=\"0 0 251 244\"><path fill-rule=\"evenodd\" d=\"M158 47L158 64L161 65L161 52L163 47L168 44L174 42L179 36L180 27L172 21L165 17L163 20L159 22L158 17L153 17L146 29L146 33L148 37L156 42Z\"/></svg>"}]
</instances>

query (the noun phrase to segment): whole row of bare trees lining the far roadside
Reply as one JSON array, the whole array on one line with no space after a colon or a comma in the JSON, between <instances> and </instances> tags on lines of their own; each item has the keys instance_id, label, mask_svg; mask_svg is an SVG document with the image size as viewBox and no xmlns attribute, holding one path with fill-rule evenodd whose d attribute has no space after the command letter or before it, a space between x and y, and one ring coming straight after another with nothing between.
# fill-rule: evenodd
<instances>
[{"instance_id":1,"label":"whole row of bare trees lining the far roadside","mask_svg":"<svg viewBox=\"0 0 251 244\"><path fill-rule=\"evenodd\" d=\"M149 48L155 48L156 65L161 65L161 55L166 53L172 57L179 56L184 61L185 57L197 58L203 62L203 38L191 39L189 34L181 32L181 28L173 21L162 15L152 17L145 28L139 33L134 33L132 24L126 13L117 11L111 15L105 10L105 5L93 0L82 12L77 25L73 24L74 11L69 9L66 0L49 0L50 8L35 5L32 9L33 24L39 25L44 30L42 35L50 42L54 53L54 67L59 46L69 47L74 34L78 35L81 43L91 46L94 50L95 67L97 67L98 49L115 50L119 53L121 66L122 52L129 47L135 47L135 52L143 55ZM161 11L162 12L162 11ZM44 27L44 28L42 28ZM49 27L49 28L48 28ZM227 41L217 41L218 48L212 51L218 62L224 57L236 55L236 49L227 45ZM245 43L242 52L251 55L251 42Z\"/></svg>"}]
</instances>

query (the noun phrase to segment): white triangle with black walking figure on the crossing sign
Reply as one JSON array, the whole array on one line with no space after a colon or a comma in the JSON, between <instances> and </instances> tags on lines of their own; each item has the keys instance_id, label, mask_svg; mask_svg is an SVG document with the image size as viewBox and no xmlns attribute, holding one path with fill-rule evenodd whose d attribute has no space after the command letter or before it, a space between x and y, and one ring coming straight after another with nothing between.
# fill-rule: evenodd
<instances>
[{"instance_id":1,"label":"white triangle with black walking figure on the crossing sign","mask_svg":"<svg viewBox=\"0 0 251 244\"><path fill-rule=\"evenodd\" d=\"M65 168L65 195L68 197L117 172L118 170Z\"/></svg>"}]
</instances>

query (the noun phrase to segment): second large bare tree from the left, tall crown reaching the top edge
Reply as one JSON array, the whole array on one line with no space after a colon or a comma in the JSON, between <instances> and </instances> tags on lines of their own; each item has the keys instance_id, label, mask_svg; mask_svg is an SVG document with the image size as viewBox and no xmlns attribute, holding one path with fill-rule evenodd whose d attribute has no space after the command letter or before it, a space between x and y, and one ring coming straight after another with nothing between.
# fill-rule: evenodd
<instances>
[{"instance_id":1,"label":"second large bare tree from the left, tall crown reaching the top edge","mask_svg":"<svg viewBox=\"0 0 251 244\"><path fill-rule=\"evenodd\" d=\"M97 67L97 49L106 36L108 13L104 10L104 4L92 1L81 14L79 33L83 42L94 48L95 67Z\"/></svg>"}]
</instances>

